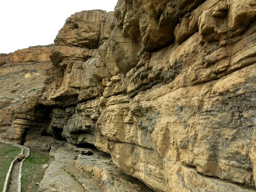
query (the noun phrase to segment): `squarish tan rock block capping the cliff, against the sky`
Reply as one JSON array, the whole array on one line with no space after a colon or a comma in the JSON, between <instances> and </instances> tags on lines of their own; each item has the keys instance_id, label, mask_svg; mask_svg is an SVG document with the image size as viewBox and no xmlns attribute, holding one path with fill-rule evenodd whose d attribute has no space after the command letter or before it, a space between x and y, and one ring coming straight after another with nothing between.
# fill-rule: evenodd
<instances>
[{"instance_id":1,"label":"squarish tan rock block capping the cliff, against the sky","mask_svg":"<svg viewBox=\"0 0 256 192\"><path fill-rule=\"evenodd\" d=\"M54 42L57 45L98 48L108 38L108 22L105 22L108 16L103 10L88 10L71 15Z\"/></svg>"}]
</instances>

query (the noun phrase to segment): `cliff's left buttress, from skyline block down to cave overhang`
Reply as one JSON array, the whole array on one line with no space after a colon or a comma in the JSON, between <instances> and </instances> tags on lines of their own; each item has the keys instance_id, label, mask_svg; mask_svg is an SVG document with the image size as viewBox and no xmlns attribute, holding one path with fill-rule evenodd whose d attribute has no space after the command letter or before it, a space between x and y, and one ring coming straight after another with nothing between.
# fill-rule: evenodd
<instances>
[{"instance_id":1,"label":"cliff's left buttress, from skyline block down to cave overhang","mask_svg":"<svg viewBox=\"0 0 256 192\"><path fill-rule=\"evenodd\" d=\"M108 38L106 26L110 22L110 17L111 13L93 10L76 13L67 20L55 40L59 46L56 46L50 55L54 66L58 68L55 82L42 95L40 103L56 106L68 103L71 106L77 101L83 102L102 96L108 83L107 46L104 42ZM81 36L77 35L76 30L70 30L71 25L81 27L81 29L78 28L82 32ZM69 36L66 36L66 31L70 32ZM100 39L98 39L99 36ZM74 41L81 44L78 45ZM100 48L97 53L97 50L92 48L98 46Z\"/></svg>"}]
</instances>

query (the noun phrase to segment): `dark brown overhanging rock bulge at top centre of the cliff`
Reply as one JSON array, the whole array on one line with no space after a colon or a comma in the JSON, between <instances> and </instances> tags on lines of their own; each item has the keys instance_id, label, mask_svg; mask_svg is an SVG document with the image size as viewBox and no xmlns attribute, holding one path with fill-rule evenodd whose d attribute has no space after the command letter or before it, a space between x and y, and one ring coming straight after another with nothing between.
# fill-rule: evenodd
<instances>
[{"instance_id":1,"label":"dark brown overhanging rock bulge at top centre of the cliff","mask_svg":"<svg viewBox=\"0 0 256 192\"><path fill-rule=\"evenodd\" d=\"M118 1L114 16L122 34L138 41L140 52L168 46L174 40L174 28L187 12L203 1ZM141 6L139 6L141 5Z\"/></svg>"}]
</instances>

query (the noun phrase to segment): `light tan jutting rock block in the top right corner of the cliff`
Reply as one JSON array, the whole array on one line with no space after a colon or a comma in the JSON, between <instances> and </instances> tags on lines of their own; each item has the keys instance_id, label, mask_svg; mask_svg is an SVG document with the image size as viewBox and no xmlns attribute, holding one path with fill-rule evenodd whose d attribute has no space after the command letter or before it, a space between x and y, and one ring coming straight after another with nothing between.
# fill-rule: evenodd
<instances>
[{"instance_id":1,"label":"light tan jutting rock block in the top right corner of the cliff","mask_svg":"<svg viewBox=\"0 0 256 192\"><path fill-rule=\"evenodd\" d=\"M228 0L204 10L198 21L201 40L223 40L242 33L256 16L254 3Z\"/></svg>"}]
</instances>

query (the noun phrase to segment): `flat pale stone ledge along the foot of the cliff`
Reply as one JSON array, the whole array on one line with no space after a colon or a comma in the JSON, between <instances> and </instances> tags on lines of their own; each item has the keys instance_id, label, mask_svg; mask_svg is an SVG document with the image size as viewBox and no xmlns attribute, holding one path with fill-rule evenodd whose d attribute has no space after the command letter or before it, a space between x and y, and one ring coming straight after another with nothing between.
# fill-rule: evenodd
<instances>
[{"instance_id":1,"label":"flat pale stone ledge along the foot of the cliff","mask_svg":"<svg viewBox=\"0 0 256 192\"><path fill-rule=\"evenodd\" d=\"M74 152L52 147L54 161L44 174L38 192L154 192L140 180L124 174L111 157L96 149Z\"/></svg>"}]
</instances>

